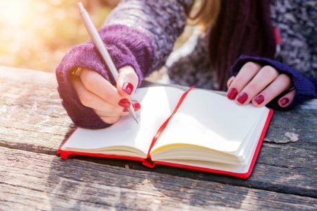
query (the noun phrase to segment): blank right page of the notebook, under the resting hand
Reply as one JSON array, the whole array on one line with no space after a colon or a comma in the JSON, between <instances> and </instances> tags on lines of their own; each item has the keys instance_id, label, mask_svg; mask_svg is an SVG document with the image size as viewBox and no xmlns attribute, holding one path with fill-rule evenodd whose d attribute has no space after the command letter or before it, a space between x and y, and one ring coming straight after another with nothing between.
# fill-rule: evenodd
<instances>
[{"instance_id":1,"label":"blank right page of the notebook, under the resting hand","mask_svg":"<svg viewBox=\"0 0 317 211\"><path fill-rule=\"evenodd\" d=\"M194 89L152 150L167 144L196 144L235 153L263 112L268 111L266 107L240 106L225 96Z\"/></svg>"}]
</instances>

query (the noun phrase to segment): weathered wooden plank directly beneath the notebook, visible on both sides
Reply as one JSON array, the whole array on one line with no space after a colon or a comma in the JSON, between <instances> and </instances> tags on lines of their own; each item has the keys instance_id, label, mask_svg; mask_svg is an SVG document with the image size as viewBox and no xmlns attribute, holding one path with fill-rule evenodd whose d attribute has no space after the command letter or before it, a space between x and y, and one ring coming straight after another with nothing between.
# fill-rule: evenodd
<instances>
[{"instance_id":1,"label":"weathered wooden plank directly beneath the notebook, visible on both sides","mask_svg":"<svg viewBox=\"0 0 317 211\"><path fill-rule=\"evenodd\" d=\"M72 131L73 124L61 107L54 74L0 67L0 84L0 146L55 154L57 147ZM276 112L266 140L289 142L289 139L298 135L298 141L264 144L254 174L247 181L167 167L159 167L154 171L316 197L317 187L313 183L317 175L315 102L317 104L317 100L312 100L304 108L286 114ZM292 127L287 129L287 125ZM115 166L129 164L131 168L145 169L135 162L89 160Z\"/></svg>"}]
</instances>

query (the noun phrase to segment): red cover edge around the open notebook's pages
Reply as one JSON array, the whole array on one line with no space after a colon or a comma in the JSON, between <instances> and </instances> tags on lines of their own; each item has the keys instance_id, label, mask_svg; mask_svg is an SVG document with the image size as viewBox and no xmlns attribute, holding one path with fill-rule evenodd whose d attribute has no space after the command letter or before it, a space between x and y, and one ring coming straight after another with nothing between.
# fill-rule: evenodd
<instances>
[{"instance_id":1,"label":"red cover edge around the open notebook's pages","mask_svg":"<svg viewBox=\"0 0 317 211\"><path fill-rule=\"evenodd\" d=\"M258 158L258 154L260 153L260 148L262 146L267 129L269 128L269 122L271 122L271 120L272 120L273 113L274 113L274 111L272 109L269 109L269 113L267 115L267 120L265 121L265 125L263 126L263 131L262 131L260 138L258 140L258 145L256 146L256 150L254 151L254 156L252 158L252 162L251 162L251 165L250 165L247 173L233 173L233 172L229 172L229 171L225 171L225 170L216 170L216 169L212 169L212 168L203 168L203 167L197 167L197 166L189 166L189 165L185 165L185 164L174 164L174 163L170 163L170 162L160 162L160 161L154 162L153 165L150 165L150 166L145 165L145 166L147 166L149 168L154 168L155 165L172 166L172 167L176 167L176 168L186 168L186 169L190 169L190 170L199 170L199 171L203 171L203 172L207 172L207 173L216 173L216 174L220 174L220 175L229 175L232 177L247 179L251 176L252 171L254 169L254 166L256 164L256 159ZM65 140L65 142L63 142L63 144L61 144L61 146L59 146L59 148L57 149L57 153L61 156L62 159L68 159L69 156L81 155L81 156L88 156L88 157L105 157L105 158L111 158L111 159L127 159L127 160L143 162L143 164L145 162L145 158L142 158L142 157L132 157L132 156L124 156L124 155L105 155L105 154L101 154L101 153L82 153L82 152L76 152L76 151L63 151L61 148L70 139L70 137L72 137L72 135L76 131L77 131L77 129L75 129L72 132L72 134Z\"/></svg>"}]
</instances>

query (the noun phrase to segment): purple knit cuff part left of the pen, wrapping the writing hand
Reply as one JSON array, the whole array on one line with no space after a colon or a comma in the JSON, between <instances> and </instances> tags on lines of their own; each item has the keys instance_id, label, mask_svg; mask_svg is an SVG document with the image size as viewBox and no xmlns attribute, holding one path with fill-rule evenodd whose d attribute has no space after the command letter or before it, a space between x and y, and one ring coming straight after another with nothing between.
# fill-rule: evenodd
<instances>
[{"instance_id":1,"label":"purple knit cuff part left of the pen, wrapping the writing hand","mask_svg":"<svg viewBox=\"0 0 317 211\"><path fill-rule=\"evenodd\" d=\"M63 107L76 124L88 129L100 129L108 126L89 107L83 106L72 87L72 70L78 67L94 69L108 79L105 66L101 63L99 56L91 44L78 45L68 52L56 70L59 96Z\"/></svg>"}]
</instances>

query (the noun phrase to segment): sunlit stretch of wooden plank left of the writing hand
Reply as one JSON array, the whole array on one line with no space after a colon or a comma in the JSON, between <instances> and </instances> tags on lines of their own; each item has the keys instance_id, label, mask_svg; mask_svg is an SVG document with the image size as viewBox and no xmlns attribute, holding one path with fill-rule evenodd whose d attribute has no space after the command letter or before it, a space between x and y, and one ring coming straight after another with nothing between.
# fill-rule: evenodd
<instances>
[{"instance_id":1,"label":"sunlit stretch of wooden plank left of the writing hand","mask_svg":"<svg viewBox=\"0 0 317 211\"><path fill-rule=\"evenodd\" d=\"M54 74L0 67L0 146L54 154L74 126Z\"/></svg>"}]
</instances>

